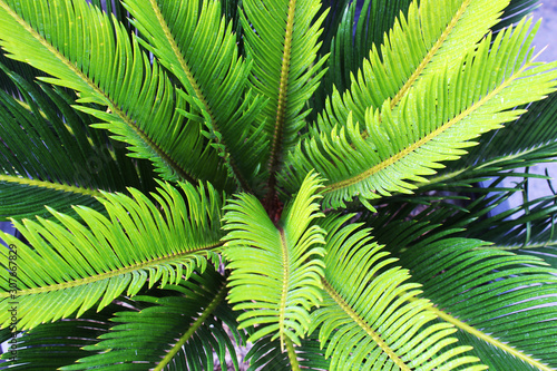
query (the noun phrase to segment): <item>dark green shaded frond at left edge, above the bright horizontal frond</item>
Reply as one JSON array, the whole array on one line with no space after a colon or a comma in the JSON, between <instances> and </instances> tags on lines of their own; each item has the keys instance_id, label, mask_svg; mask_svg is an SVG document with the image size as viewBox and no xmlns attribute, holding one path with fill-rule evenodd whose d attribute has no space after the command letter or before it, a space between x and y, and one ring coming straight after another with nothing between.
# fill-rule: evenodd
<instances>
[{"instance_id":1,"label":"dark green shaded frond at left edge, above the bright horizontal frond","mask_svg":"<svg viewBox=\"0 0 557 371\"><path fill-rule=\"evenodd\" d=\"M95 198L100 191L152 189L150 172L138 172L147 164L133 163L117 141L89 129L90 118L76 114L62 91L7 74L22 100L0 91L0 217L49 217L45 205L70 214L75 204L101 212Z\"/></svg>"}]
</instances>

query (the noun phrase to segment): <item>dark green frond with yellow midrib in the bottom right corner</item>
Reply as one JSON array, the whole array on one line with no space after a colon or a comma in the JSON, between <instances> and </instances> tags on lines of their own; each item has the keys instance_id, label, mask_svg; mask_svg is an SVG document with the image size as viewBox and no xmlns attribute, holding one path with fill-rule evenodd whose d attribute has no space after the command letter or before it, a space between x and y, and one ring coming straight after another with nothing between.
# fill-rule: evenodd
<instances>
[{"instance_id":1,"label":"dark green frond with yellow midrib in the bottom right corner","mask_svg":"<svg viewBox=\"0 0 557 371\"><path fill-rule=\"evenodd\" d=\"M477 240L432 238L400 254L436 304L428 311L453 324L490 369L553 370L557 271Z\"/></svg>"}]
</instances>

